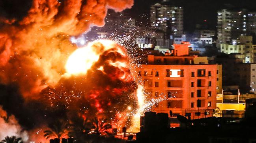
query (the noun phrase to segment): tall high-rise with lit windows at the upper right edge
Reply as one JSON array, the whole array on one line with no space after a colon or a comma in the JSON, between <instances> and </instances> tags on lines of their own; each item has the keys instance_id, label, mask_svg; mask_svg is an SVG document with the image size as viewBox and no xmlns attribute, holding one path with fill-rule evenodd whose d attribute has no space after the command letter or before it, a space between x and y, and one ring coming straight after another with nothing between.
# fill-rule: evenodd
<instances>
[{"instance_id":1,"label":"tall high-rise with lit windows at the upper right edge","mask_svg":"<svg viewBox=\"0 0 256 143\"><path fill-rule=\"evenodd\" d=\"M231 44L241 34L256 34L256 13L247 9L218 11L217 47L221 43Z\"/></svg>"}]
</instances>

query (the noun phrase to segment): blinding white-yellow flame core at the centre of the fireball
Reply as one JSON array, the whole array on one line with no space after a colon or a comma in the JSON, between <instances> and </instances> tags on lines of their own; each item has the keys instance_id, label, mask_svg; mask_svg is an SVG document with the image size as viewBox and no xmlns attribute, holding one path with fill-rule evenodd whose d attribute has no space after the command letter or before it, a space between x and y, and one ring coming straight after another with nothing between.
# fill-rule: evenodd
<instances>
[{"instance_id":1,"label":"blinding white-yellow flame core at the centre of the fireball","mask_svg":"<svg viewBox=\"0 0 256 143\"><path fill-rule=\"evenodd\" d=\"M116 52L123 56L126 56L123 50L119 47L119 45L111 40L97 40L88 43L88 46L86 47L77 49L69 56L67 60L67 63L65 65L67 74L86 74L86 72L92 67L92 65L99 60L100 55L109 49L113 49L113 47L117 47L117 49L115 49ZM113 65L115 67L127 67L127 63L125 62L112 62L111 60L109 60L108 62L110 63L110 65ZM103 67L99 67L99 70L104 71Z\"/></svg>"}]
</instances>

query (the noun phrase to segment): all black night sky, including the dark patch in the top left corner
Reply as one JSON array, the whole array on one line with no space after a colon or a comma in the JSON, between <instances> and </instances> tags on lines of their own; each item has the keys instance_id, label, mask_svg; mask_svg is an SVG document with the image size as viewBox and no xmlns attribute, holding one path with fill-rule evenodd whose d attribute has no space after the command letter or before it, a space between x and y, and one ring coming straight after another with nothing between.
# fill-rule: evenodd
<instances>
[{"instance_id":1,"label":"all black night sky, including the dark patch in the top left corner","mask_svg":"<svg viewBox=\"0 0 256 143\"><path fill-rule=\"evenodd\" d=\"M126 12L138 22L146 24L150 5L159 1L161 0L135 0L133 8ZM21 19L26 15L31 2L32 0L0 0L0 17ZM217 10L226 8L228 4L233 5L234 8L256 11L256 0L170 0L168 3L184 8L184 30L191 32L194 31L196 24L204 25L208 29L216 29Z\"/></svg>"}]
</instances>

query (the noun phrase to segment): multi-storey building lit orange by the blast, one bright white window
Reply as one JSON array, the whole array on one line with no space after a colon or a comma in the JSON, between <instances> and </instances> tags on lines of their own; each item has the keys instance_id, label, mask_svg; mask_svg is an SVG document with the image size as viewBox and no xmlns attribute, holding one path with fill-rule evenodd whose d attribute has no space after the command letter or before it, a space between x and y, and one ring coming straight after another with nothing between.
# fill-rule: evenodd
<instances>
[{"instance_id":1,"label":"multi-storey building lit orange by the blast, one bright white window","mask_svg":"<svg viewBox=\"0 0 256 143\"><path fill-rule=\"evenodd\" d=\"M149 98L166 99L153 107L155 112L191 119L213 115L216 89L221 86L217 85L219 66L208 64L207 57L189 56L189 45L174 44L172 56L148 55L138 69Z\"/></svg>"}]
</instances>

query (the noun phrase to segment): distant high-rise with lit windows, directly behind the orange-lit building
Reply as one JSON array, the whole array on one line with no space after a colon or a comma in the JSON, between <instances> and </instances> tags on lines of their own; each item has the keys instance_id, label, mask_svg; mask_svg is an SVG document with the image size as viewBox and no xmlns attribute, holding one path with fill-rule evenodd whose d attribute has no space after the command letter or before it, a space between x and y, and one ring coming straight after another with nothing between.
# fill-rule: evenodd
<instances>
[{"instance_id":1,"label":"distant high-rise with lit windows, directly behind the orange-lit building","mask_svg":"<svg viewBox=\"0 0 256 143\"><path fill-rule=\"evenodd\" d=\"M151 29L162 30L170 35L183 34L183 7L154 4L150 7Z\"/></svg>"}]
</instances>

